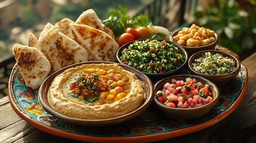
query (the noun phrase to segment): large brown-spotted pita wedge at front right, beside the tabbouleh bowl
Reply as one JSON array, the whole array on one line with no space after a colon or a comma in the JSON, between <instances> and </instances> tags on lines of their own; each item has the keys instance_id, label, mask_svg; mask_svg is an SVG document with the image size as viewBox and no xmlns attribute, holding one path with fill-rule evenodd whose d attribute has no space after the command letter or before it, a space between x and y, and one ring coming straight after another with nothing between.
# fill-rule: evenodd
<instances>
[{"instance_id":1,"label":"large brown-spotted pita wedge at front right, beside the tabbouleh bowl","mask_svg":"<svg viewBox=\"0 0 256 143\"><path fill-rule=\"evenodd\" d=\"M70 23L70 27L81 45L94 56L95 60L116 61L119 45L107 33L84 24Z\"/></svg>"}]
</instances>

